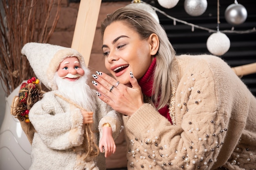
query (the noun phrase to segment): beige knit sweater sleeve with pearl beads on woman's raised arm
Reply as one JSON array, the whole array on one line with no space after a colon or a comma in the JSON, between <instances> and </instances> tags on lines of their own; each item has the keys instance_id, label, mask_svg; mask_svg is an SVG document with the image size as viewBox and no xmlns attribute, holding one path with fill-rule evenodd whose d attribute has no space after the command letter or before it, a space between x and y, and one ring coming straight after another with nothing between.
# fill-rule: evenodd
<instances>
[{"instance_id":1,"label":"beige knit sweater sleeve with pearl beads on woman's raised arm","mask_svg":"<svg viewBox=\"0 0 256 170\"><path fill-rule=\"evenodd\" d=\"M225 72L215 78L223 76L229 79ZM211 169L216 164L218 167L217 157L231 112L227 105L219 108L216 90L227 85L216 84L223 83L225 78L215 78L204 60L188 67L175 94L176 125L149 104L144 104L130 118L124 117L130 146L140 148L138 154L145 158L144 162L153 161L163 169ZM221 100L225 98L222 96ZM128 157L134 153L136 150L129 150Z\"/></svg>"}]
</instances>

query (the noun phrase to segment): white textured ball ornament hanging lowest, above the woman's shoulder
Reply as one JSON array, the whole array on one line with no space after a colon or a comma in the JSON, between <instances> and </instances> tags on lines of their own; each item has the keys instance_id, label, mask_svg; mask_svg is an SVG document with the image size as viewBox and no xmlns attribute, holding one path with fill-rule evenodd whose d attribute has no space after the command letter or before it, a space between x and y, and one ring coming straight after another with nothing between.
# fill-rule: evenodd
<instances>
[{"instance_id":1,"label":"white textured ball ornament hanging lowest, above the woman's shoulder","mask_svg":"<svg viewBox=\"0 0 256 170\"><path fill-rule=\"evenodd\" d=\"M230 40L226 34L217 31L207 39L207 49L211 54L220 56L225 54L230 47Z\"/></svg>"}]
</instances>

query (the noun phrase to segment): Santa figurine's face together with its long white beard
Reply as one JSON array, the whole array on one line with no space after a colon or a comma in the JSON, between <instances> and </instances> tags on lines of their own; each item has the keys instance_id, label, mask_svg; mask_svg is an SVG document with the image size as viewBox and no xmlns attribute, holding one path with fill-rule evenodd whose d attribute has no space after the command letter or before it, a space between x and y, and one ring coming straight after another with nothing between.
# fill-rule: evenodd
<instances>
[{"instance_id":1,"label":"Santa figurine's face together with its long white beard","mask_svg":"<svg viewBox=\"0 0 256 170\"><path fill-rule=\"evenodd\" d=\"M93 94L87 82L90 75L90 70L80 65L76 57L67 57L54 74L58 93L85 110L94 111L96 105L92 100Z\"/></svg>"}]
</instances>

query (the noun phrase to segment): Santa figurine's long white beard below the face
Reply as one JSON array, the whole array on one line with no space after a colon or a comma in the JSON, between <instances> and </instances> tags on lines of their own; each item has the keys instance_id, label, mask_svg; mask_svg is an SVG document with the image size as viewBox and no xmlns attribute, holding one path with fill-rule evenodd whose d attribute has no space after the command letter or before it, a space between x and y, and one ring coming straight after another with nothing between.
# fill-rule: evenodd
<instances>
[{"instance_id":1,"label":"Santa figurine's long white beard below the face","mask_svg":"<svg viewBox=\"0 0 256 170\"><path fill-rule=\"evenodd\" d=\"M58 91L63 97L83 107L86 111L95 111L96 103L93 96L95 94L92 93L87 84L88 78L86 76L88 75L81 76L76 81L68 81L60 78L56 73L54 80L58 86Z\"/></svg>"}]
</instances>

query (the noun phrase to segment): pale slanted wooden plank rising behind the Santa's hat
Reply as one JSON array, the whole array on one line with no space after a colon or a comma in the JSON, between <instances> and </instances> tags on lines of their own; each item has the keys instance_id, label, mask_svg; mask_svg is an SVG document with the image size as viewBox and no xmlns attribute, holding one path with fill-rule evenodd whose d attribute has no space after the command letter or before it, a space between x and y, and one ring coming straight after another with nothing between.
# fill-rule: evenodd
<instances>
[{"instance_id":1,"label":"pale slanted wooden plank rising behind the Santa's hat","mask_svg":"<svg viewBox=\"0 0 256 170\"><path fill-rule=\"evenodd\" d=\"M71 48L80 52L88 66L101 0L81 0Z\"/></svg>"}]
</instances>

